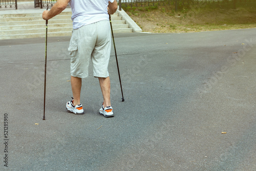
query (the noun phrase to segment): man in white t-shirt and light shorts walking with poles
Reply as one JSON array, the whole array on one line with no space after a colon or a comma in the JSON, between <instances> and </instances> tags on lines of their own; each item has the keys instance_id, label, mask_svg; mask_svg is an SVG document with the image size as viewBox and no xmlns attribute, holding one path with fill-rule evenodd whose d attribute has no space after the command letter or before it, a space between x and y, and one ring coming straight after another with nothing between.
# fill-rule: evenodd
<instances>
[{"instance_id":1,"label":"man in white t-shirt and light shorts walking with poles","mask_svg":"<svg viewBox=\"0 0 256 171\"><path fill-rule=\"evenodd\" d=\"M73 32L70 40L71 87L73 97L67 102L68 111L84 114L80 103L82 78L88 77L90 59L94 77L98 77L103 104L99 110L105 117L112 117L110 102L110 78L108 72L111 51L111 28L109 14L117 10L116 0L58 0L50 11L44 11L42 18L48 20L70 4L72 10Z\"/></svg>"}]
</instances>

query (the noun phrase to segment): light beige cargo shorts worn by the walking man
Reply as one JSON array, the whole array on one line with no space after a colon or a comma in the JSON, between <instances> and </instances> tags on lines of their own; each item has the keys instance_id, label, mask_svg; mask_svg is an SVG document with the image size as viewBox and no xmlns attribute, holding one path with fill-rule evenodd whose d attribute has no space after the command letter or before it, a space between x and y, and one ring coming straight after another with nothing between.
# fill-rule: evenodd
<instances>
[{"instance_id":1,"label":"light beige cargo shorts worn by the walking man","mask_svg":"<svg viewBox=\"0 0 256 171\"><path fill-rule=\"evenodd\" d=\"M94 77L109 77L111 28L109 20L73 29L69 45L71 75L86 78L92 61Z\"/></svg>"}]
</instances>

